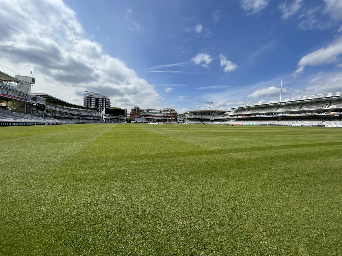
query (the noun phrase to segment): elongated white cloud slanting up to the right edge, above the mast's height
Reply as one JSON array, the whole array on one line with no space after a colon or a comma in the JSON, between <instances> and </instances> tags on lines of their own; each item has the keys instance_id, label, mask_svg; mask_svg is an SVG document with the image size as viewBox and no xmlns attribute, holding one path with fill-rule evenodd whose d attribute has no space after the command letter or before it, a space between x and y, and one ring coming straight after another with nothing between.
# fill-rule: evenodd
<instances>
[{"instance_id":1,"label":"elongated white cloud slanting up to the right edge, above the mast's height","mask_svg":"<svg viewBox=\"0 0 342 256\"><path fill-rule=\"evenodd\" d=\"M304 71L306 66L319 66L338 61L338 56L342 54L342 36L333 41L328 47L323 47L315 52L302 57L297 64L295 73Z\"/></svg>"}]
</instances>

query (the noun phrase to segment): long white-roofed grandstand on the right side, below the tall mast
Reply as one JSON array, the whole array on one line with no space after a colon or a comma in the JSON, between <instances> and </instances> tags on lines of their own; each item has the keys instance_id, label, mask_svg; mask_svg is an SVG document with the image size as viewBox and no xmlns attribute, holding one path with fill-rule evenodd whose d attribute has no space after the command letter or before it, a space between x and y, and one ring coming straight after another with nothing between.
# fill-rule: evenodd
<instances>
[{"instance_id":1,"label":"long white-roofed grandstand on the right side, below the tall mast","mask_svg":"<svg viewBox=\"0 0 342 256\"><path fill-rule=\"evenodd\" d=\"M233 110L232 124L342 127L342 93L243 105Z\"/></svg>"}]
</instances>

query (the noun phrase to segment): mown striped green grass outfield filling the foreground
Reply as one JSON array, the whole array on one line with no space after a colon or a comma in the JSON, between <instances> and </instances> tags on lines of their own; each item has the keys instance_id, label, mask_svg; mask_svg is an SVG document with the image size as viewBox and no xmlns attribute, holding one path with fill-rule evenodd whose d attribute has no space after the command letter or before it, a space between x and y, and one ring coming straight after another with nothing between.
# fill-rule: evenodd
<instances>
[{"instance_id":1,"label":"mown striped green grass outfield filling the foreground","mask_svg":"<svg viewBox=\"0 0 342 256\"><path fill-rule=\"evenodd\" d=\"M0 128L0 255L341 255L342 129Z\"/></svg>"}]
</instances>

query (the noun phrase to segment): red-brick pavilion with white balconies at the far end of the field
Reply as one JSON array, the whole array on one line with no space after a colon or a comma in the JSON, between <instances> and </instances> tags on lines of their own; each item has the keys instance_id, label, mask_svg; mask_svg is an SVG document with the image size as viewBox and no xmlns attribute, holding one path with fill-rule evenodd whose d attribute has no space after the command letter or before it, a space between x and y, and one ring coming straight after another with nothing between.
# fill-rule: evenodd
<instances>
[{"instance_id":1,"label":"red-brick pavilion with white balconies at the far end of the field","mask_svg":"<svg viewBox=\"0 0 342 256\"><path fill-rule=\"evenodd\" d=\"M179 119L179 120L177 120ZM131 123L149 123L164 122L177 123L181 122L181 118L177 118L177 112L174 109L141 109L134 106L130 112Z\"/></svg>"}]
</instances>

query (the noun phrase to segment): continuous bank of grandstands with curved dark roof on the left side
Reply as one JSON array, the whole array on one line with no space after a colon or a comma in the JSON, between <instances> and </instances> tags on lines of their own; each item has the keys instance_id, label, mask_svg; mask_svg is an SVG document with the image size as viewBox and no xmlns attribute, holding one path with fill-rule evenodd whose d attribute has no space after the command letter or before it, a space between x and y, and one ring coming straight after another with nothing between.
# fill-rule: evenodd
<instances>
[{"instance_id":1,"label":"continuous bank of grandstands with curved dark roof on the left side","mask_svg":"<svg viewBox=\"0 0 342 256\"><path fill-rule=\"evenodd\" d=\"M104 123L97 108L31 93L31 76L0 73L0 121L19 123Z\"/></svg>"}]
</instances>

